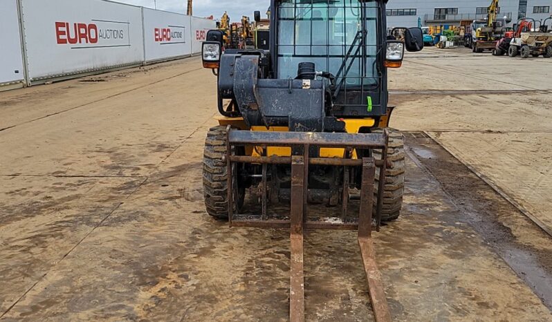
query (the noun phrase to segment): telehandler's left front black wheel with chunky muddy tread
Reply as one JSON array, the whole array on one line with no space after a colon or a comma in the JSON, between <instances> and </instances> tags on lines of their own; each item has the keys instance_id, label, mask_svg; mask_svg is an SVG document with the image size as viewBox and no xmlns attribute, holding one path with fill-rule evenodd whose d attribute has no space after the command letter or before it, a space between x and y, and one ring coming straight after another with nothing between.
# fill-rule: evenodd
<instances>
[{"instance_id":1,"label":"telehandler's left front black wheel with chunky muddy tread","mask_svg":"<svg viewBox=\"0 0 552 322\"><path fill-rule=\"evenodd\" d=\"M228 219L228 168L226 155L226 126L210 129L203 150L203 197L207 213L215 218ZM234 176L237 171L232 171ZM235 180L234 180L235 181ZM236 183L237 184L237 183ZM233 189L234 209L243 205L245 189Z\"/></svg>"}]
</instances>

